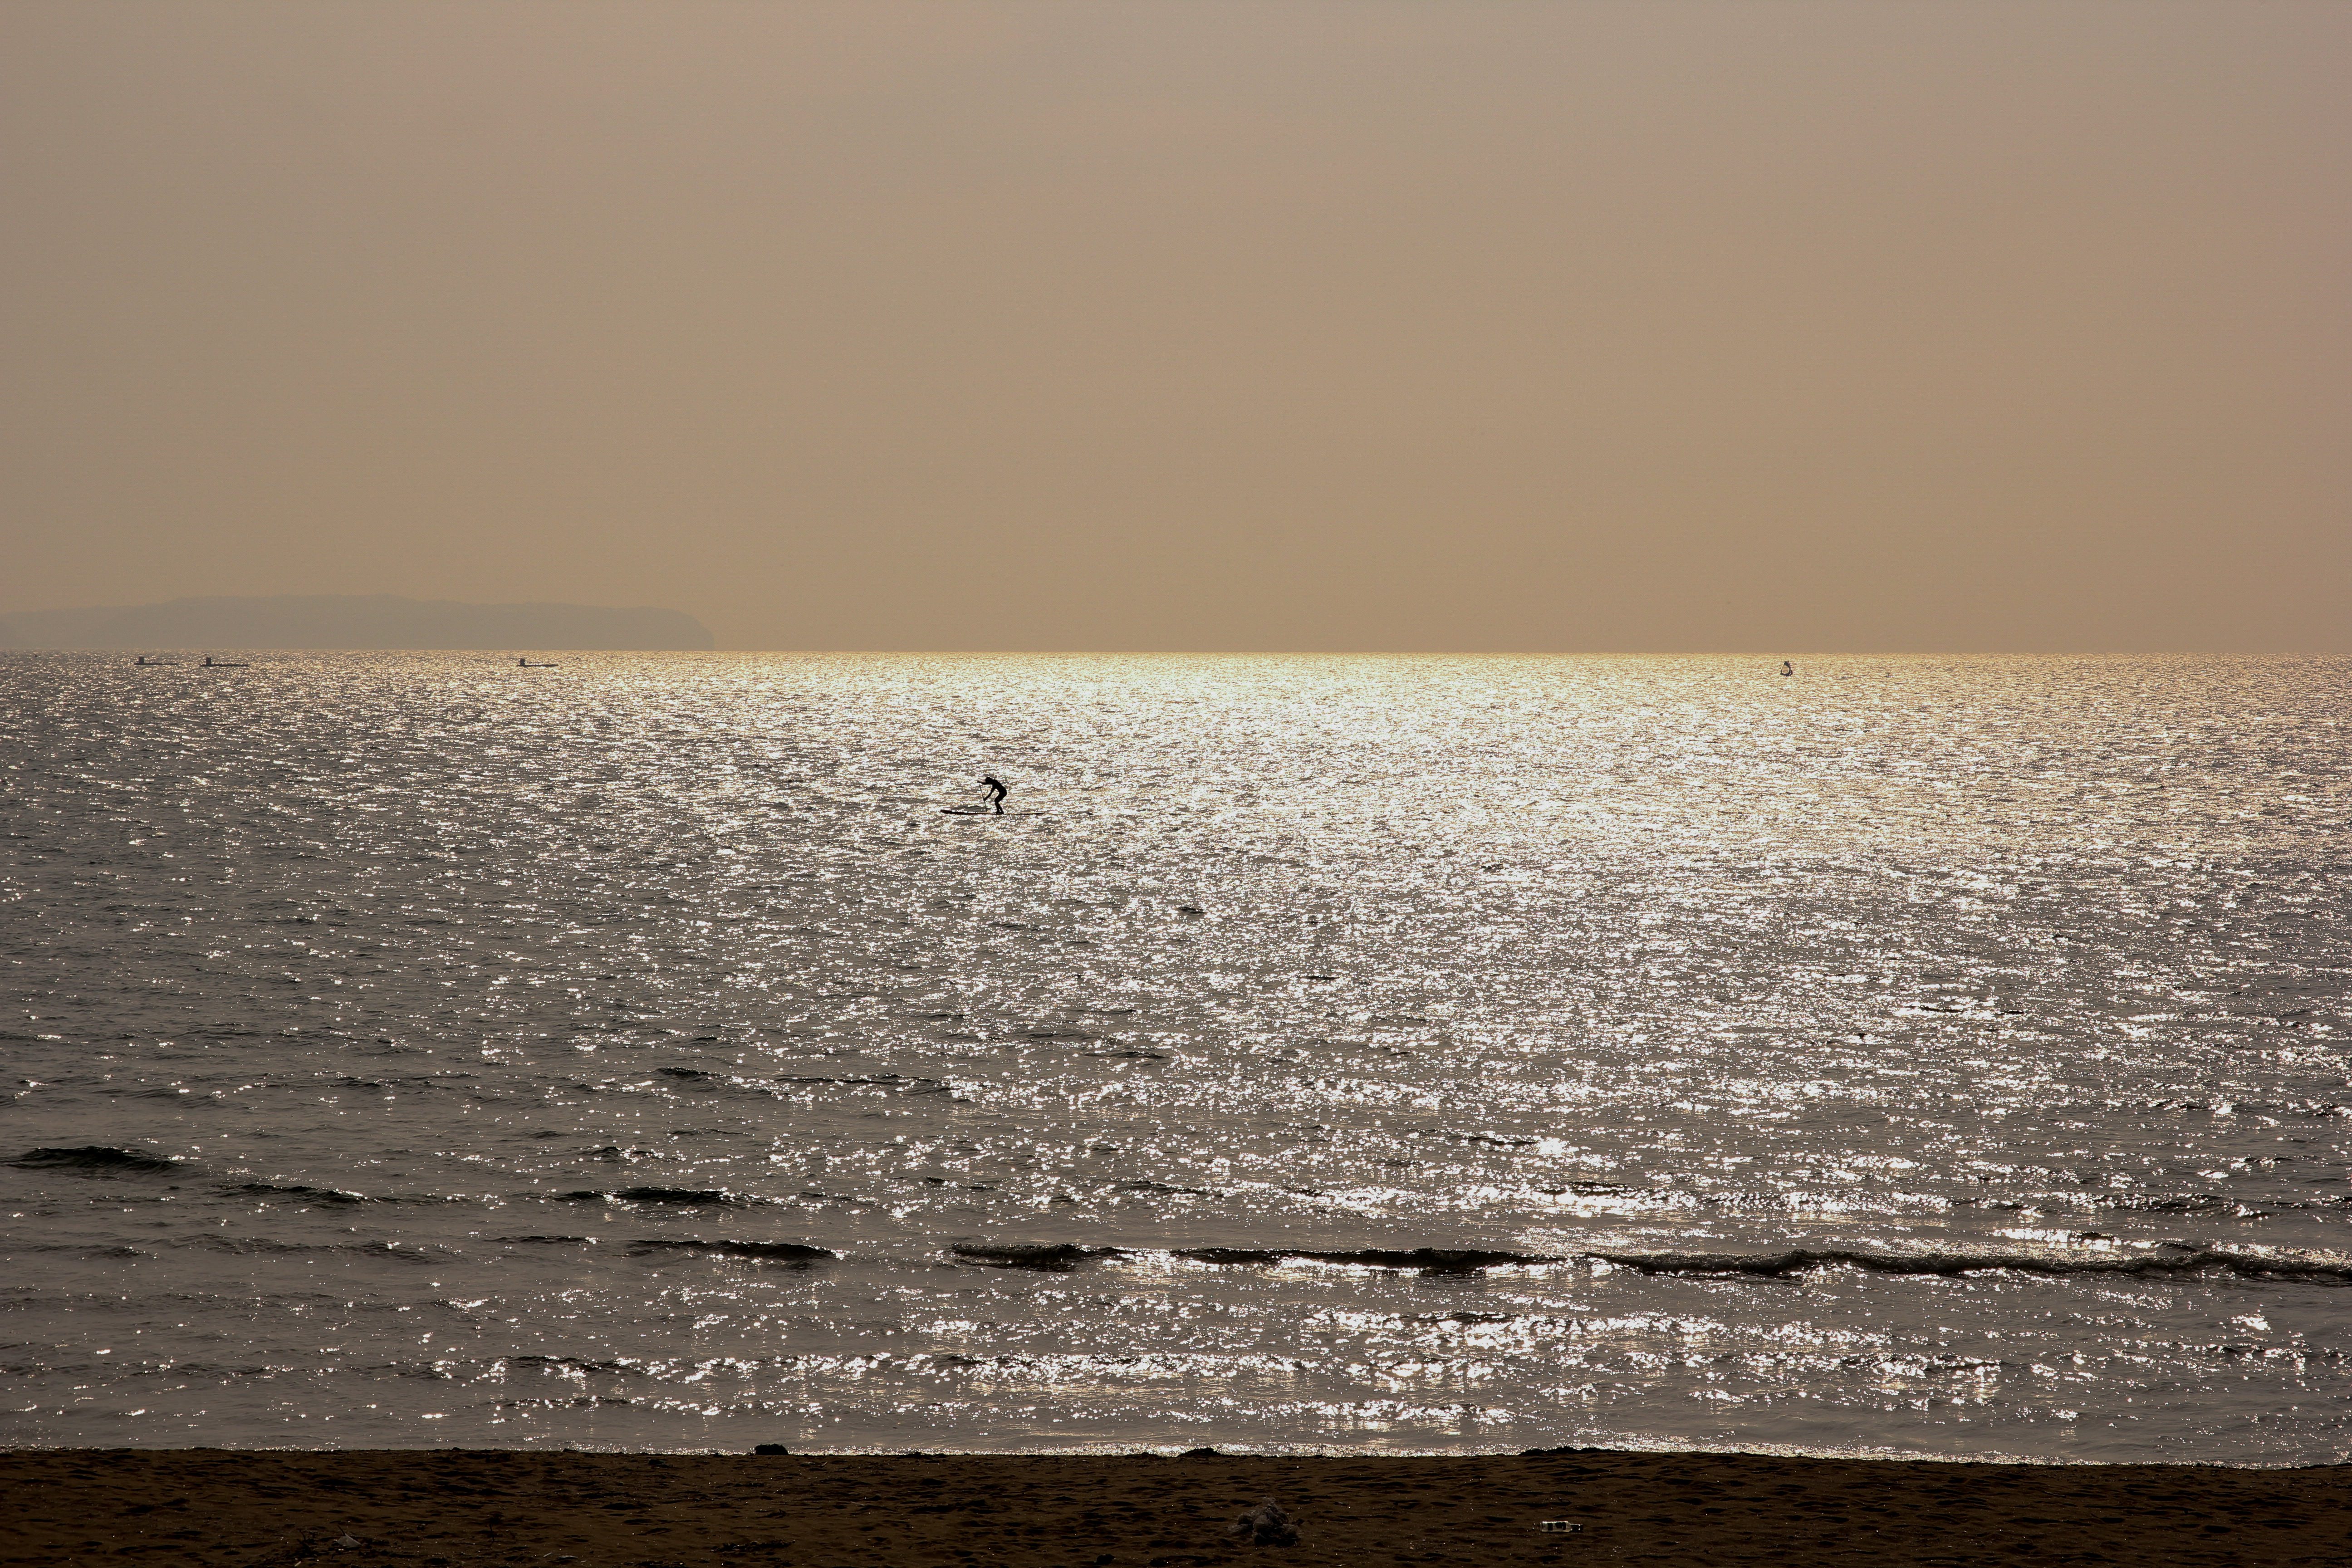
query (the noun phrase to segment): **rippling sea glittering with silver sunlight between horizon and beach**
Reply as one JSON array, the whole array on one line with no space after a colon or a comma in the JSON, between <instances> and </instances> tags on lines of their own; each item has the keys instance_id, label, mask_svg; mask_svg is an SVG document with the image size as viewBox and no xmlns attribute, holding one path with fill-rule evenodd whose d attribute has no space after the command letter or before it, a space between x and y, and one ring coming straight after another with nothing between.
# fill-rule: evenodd
<instances>
[{"instance_id":1,"label":"rippling sea glittering with silver sunlight between horizon and beach","mask_svg":"<svg viewBox=\"0 0 2352 1568\"><path fill-rule=\"evenodd\" d=\"M0 654L0 1441L2352 1453L2352 661L249 658Z\"/></svg>"}]
</instances>

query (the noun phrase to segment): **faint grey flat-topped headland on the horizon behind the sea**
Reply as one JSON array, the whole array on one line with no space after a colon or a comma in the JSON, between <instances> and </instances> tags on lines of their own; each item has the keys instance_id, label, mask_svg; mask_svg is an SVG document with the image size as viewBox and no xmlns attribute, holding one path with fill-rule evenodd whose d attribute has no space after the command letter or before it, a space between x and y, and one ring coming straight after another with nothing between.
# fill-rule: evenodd
<instances>
[{"instance_id":1,"label":"faint grey flat-topped headland on the horizon behind the sea","mask_svg":"<svg viewBox=\"0 0 2352 1568\"><path fill-rule=\"evenodd\" d=\"M0 649L710 649L680 609L369 595L172 599L0 616Z\"/></svg>"}]
</instances>

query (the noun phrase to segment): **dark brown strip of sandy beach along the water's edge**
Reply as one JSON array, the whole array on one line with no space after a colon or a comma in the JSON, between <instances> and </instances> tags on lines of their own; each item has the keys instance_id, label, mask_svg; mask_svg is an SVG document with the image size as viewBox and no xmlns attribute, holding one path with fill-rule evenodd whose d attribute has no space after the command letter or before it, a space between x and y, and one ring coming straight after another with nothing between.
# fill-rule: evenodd
<instances>
[{"instance_id":1,"label":"dark brown strip of sandy beach along the water's edge","mask_svg":"<svg viewBox=\"0 0 2352 1568\"><path fill-rule=\"evenodd\" d=\"M1275 1497L1296 1544L1228 1526ZM1543 1533L1559 1519L1573 1533ZM355 1544L341 1544L341 1542ZM16 1450L0 1566L2352 1563L2352 1467Z\"/></svg>"}]
</instances>

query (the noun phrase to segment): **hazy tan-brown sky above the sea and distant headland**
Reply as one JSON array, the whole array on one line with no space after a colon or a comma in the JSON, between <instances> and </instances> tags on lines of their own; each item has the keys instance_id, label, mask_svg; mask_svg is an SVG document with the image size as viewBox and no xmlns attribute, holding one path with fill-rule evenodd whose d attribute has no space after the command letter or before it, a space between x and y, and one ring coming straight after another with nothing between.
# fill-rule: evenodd
<instances>
[{"instance_id":1,"label":"hazy tan-brown sky above the sea and distant headland","mask_svg":"<svg viewBox=\"0 0 2352 1568\"><path fill-rule=\"evenodd\" d=\"M2352 5L0 2L0 611L2352 651Z\"/></svg>"}]
</instances>

